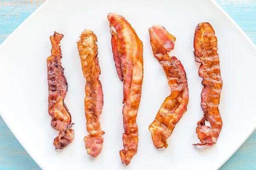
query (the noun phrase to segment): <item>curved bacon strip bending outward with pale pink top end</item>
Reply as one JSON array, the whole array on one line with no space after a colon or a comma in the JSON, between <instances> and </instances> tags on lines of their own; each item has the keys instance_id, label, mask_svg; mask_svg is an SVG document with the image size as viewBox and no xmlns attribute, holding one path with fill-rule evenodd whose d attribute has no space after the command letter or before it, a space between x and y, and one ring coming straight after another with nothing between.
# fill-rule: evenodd
<instances>
[{"instance_id":1,"label":"curved bacon strip bending outward with pale pink top end","mask_svg":"<svg viewBox=\"0 0 256 170\"><path fill-rule=\"evenodd\" d=\"M154 57L163 66L172 91L148 127L154 146L162 148L168 146L166 139L187 110L189 89L183 65L176 57L167 54L174 48L175 37L159 25L154 25L148 31Z\"/></svg>"}]
</instances>

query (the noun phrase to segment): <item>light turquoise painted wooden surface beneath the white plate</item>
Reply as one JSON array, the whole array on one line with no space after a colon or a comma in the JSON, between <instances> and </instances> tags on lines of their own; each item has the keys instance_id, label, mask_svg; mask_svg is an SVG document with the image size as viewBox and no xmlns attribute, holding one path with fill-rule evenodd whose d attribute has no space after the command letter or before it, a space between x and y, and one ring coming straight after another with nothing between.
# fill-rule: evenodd
<instances>
[{"instance_id":1,"label":"light turquoise painted wooden surface beneath the white plate","mask_svg":"<svg viewBox=\"0 0 256 170\"><path fill-rule=\"evenodd\" d=\"M44 1L0 0L0 43ZM216 0L216 2L256 44L256 0ZM11 11L10 15L6 15ZM1 117L0 170L41 170L13 136ZM220 170L256 170L256 131Z\"/></svg>"}]
</instances>

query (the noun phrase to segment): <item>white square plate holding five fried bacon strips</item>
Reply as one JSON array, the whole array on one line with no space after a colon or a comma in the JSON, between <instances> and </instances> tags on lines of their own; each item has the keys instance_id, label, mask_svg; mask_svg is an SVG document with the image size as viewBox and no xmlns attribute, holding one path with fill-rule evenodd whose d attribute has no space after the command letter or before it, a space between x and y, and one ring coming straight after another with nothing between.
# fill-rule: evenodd
<instances>
[{"instance_id":1,"label":"white square plate holding five fried bacon strips","mask_svg":"<svg viewBox=\"0 0 256 170\"><path fill-rule=\"evenodd\" d=\"M140 109L138 153L128 167L121 164L122 82L113 62L107 15L120 14L131 23L144 45L144 81ZM201 78L194 61L193 37L198 23L209 22L218 38L223 91L220 112L223 128L212 147L195 147L199 142L196 123L200 108ZM162 66L154 58L148 28L164 26L176 37L171 55L182 62L189 84L188 110L177 123L169 147L157 150L148 125L170 94ZM84 116L85 79L76 41L84 29L98 37L104 106L101 115L105 131L102 153L87 155ZM61 151L54 150L57 136L47 113L47 65L54 31L61 40L62 65L69 90L65 102L75 123L75 140ZM0 113L19 142L44 170L142 170L217 169L241 146L256 127L256 47L241 28L212 0L48 0L0 46Z\"/></svg>"}]
</instances>

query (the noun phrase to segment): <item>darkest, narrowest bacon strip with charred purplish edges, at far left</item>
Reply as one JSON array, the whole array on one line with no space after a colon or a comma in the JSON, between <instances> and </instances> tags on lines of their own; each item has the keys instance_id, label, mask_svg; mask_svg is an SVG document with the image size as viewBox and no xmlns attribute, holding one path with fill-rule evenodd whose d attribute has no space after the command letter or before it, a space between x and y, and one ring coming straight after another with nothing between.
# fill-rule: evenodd
<instances>
[{"instance_id":1,"label":"darkest, narrowest bacon strip with charred purplish edges, at far left","mask_svg":"<svg viewBox=\"0 0 256 170\"><path fill-rule=\"evenodd\" d=\"M48 113L52 117L51 125L59 131L54 139L55 149L64 149L74 140L74 130L70 129L71 115L64 103L67 93L67 79L64 76L64 68L61 66L61 47L59 46L63 34L54 32L50 37L52 42L52 55L47 58L48 78Z\"/></svg>"}]
</instances>

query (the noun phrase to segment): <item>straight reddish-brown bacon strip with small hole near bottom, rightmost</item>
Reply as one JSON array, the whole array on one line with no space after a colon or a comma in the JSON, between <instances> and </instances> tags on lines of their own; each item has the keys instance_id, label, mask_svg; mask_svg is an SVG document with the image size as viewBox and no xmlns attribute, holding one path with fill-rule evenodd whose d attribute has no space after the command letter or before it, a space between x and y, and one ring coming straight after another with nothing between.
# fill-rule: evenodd
<instances>
[{"instance_id":1,"label":"straight reddish-brown bacon strip with small hole near bottom, rightmost","mask_svg":"<svg viewBox=\"0 0 256 170\"><path fill-rule=\"evenodd\" d=\"M222 79L217 53L217 38L209 23L200 23L195 28L194 48L195 61L201 63L198 74L203 78L202 85L204 85L201 93L201 108L204 111L204 117L198 121L196 128L196 133L202 143L194 145L212 146L216 144L222 128L218 109ZM206 126L205 121L209 121L211 127Z\"/></svg>"}]
</instances>

